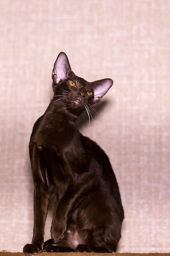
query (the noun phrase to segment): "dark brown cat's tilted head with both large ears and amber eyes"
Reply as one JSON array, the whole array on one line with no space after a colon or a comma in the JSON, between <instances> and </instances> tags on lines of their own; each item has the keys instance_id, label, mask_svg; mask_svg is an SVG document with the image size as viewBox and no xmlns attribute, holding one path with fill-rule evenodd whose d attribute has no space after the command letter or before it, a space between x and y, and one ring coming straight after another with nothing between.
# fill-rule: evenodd
<instances>
[{"instance_id":1,"label":"dark brown cat's tilted head with both large ears and amber eyes","mask_svg":"<svg viewBox=\"0 0 170 256\"><path fill-rule=\"evenodd\" d=\"M64 52L60 52L54 63L52 79L53 104L64 106L74 112L77 110L77 115L99 102L113 85L112 79L87 82L76 76Z\"/></svg>"}]
</instances>

